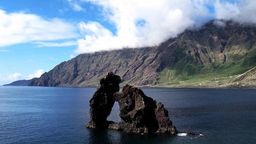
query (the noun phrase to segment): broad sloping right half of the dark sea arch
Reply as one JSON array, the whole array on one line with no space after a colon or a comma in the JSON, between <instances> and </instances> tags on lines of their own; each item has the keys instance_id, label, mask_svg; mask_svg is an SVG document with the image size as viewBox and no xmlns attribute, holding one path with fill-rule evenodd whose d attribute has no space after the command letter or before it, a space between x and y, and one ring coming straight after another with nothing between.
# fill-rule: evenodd
<instances>
[{"instance_id":1,"label":"broad sloping right half of the dark sea arch","mask_svg":"<svg viewBox=\"0 0 256 144\"><path fill-rule=\"evenodd\" d=\"M119 103L121 121L110 124L109 128L135 133L177 133L164 105L146 96L141 89L125 85L114 96Z\"/></svg>"}]
</instances>

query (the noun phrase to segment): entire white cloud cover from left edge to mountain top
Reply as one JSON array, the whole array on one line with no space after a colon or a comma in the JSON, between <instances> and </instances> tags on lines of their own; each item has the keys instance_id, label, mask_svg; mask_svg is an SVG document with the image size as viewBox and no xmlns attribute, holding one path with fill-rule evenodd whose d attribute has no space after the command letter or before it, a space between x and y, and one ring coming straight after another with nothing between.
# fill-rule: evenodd
<instances>
[{"instance_id":1,"label":"entire white cloud cover from left edge to mountain top","mask_svg":"<svg viewBox=\"0 0 256 144\"><path fill-rule=\"evenodd\" d=\"M70 22L0 10L0 48L22 43L33 43L36 47L77 46L71 54L76 55L156 46L211 19L256 23L256 1L250 0L66 0L66 3L81 13L86 13L82 4L95 6L115 30L95 20Z\"/></svg>"}]
</instances>

